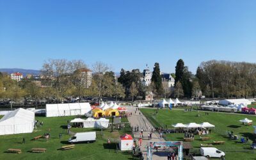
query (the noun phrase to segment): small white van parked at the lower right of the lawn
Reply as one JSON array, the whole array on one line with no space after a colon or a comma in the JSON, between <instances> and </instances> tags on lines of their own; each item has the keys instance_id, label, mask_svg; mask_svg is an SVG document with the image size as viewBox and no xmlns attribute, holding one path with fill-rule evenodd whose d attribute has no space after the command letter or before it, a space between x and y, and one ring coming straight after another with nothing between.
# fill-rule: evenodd
<instances>
[{"instance_id":1,"label":"small white van parked at the lower right of the lawn","mask_svg":"<svg viewBox=\"0 0 256 160\"><path fill-rule=\"evenodd\" d=\"M200 154L206 157L225 157L225 153L214 147L201 147Z\"/></svg>"}]
</instances>

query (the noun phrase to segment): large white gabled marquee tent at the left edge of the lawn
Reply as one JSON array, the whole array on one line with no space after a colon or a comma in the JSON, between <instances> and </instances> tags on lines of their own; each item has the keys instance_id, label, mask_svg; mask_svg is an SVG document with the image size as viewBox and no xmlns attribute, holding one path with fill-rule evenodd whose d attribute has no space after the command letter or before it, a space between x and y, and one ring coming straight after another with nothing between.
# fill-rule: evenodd
<instances>
[{"instance_id":1,"label":"large white gabled marquee tent at the left edge of the lawn","mask_svg":"<svg viewBox=\"0 0 256 160\"><path fill-rule=\"evenodd\" d=\"M16 109L0 120L0 135L33 132L35 113L26 109Z\"/></svg>"}]
</instances>

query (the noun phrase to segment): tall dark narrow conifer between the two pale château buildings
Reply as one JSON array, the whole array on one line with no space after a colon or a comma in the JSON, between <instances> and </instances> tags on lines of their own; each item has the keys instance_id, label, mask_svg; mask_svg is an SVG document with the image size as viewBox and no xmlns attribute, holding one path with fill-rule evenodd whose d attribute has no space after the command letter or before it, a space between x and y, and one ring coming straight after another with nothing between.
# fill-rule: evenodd
<instances>
[{"instance_id":1,"label":"tall dark narrow conifer between the two pale ch\u00e2teau buildings","mask_svg":"<svg viewBox=\"0 0 256 160\"><path fill-rule=\"evenodd\" d=\"M155 63L154 65L151 81L154 82L154 84L156 85L156 92L158 94L163 93L163 84L162 84L162 77L160 74L159 63Z\"/></svg>"}]
</instances>

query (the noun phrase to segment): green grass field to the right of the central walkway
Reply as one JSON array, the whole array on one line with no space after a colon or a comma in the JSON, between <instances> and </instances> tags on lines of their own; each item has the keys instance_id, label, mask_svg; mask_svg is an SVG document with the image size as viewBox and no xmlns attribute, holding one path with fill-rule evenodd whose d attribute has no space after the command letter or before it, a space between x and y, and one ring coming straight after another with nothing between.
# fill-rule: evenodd
<instances>
[{"instance_id":1,"label":"green grass field to the right of the central walkway","mask_svg":"<svg viewBox=\"0 0 256 160\"><path fill-rule=\"evenodd\" d=\"M256 159L256 151L250 149L250 144L240 143L238 140L228 140L225 136L227 131L233 131L234 134L238 135L239 138L248 137L250 143L255 140L256 136L253 134L253 127L244 126L239 122L243 118L249 118L256 122L256 116L250 115L235 115L227 113L213 113L209 112L209 115L205 115L203 111L191 111L184 112L181 110L173 109L159 109L157 115L155 116L155 109L140 109L143 114L150 120L150 122L158 127L172 128L172 124L183 123L188 124L191 122L202 123L209 122L216 125L216 129L212 129L211 140L200 141L200 136L195 136L195 141L192 142L194 150L199 150L200 144L212 143L214 141L225 141L225 145L214 145L214 147L223 150L226 153L226 159ZM200 116L196 116L200 114ZM180 141L183 140L183 133L171 133L165 134L167 141ZM240 139L239 139L240 140Z\"/></svg>"}]
</instances>

